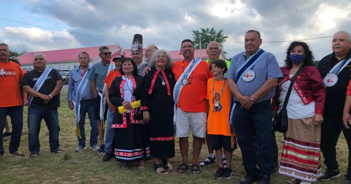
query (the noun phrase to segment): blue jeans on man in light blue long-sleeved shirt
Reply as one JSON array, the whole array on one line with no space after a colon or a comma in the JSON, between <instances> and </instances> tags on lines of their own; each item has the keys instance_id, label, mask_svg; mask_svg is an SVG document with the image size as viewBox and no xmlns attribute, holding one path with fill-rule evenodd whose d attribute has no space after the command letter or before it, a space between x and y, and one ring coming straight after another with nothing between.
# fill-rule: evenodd
<instances>
[{"instance_id":1,"label":"blue jeans on man in light blue long-sleeved shirt","mask_svg":"<svg viewBox=\"0 0 351 184\"><path fill-rule=\"evenodd\" d=\"M85 147L85 115L88 113L90 120L90 126L92 127L90 131L90 147L98 145L98 121L94 118L94 100L84 100L80 101L80 119L79 119L79 130L81 138L78 138L78 146Z\"/></svg>"}]
</instances>

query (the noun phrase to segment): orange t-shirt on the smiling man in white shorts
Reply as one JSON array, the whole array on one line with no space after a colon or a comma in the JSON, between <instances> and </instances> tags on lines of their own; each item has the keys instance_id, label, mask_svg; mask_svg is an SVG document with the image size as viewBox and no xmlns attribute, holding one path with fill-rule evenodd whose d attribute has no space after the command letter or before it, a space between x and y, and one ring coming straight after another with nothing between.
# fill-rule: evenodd
<instances>
[{"instance_id":1,"label":"orange t-shirt on the smiling man in white shorts","mask_svg":"<svg viewBox=\"0 0 351 184\"><path fill-rule=\"evenodd\" d=\"M184 60L173 63L172 71L175 74L176 81L183 75L183 68L188 67L190 61ZM206 84L207 80L213 77L209 64L206 61L200 61L193 72L188 76L189 84L183 86L180 91L177 107L184 112L207 112ZM186 76L187 74L185 74Z\"/></svg>"}]
</instances>

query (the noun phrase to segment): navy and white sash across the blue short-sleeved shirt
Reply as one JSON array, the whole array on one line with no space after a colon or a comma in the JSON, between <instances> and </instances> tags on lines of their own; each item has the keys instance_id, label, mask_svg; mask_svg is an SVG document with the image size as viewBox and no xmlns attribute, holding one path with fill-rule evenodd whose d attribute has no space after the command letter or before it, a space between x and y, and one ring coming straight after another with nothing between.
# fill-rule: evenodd
<instances>
[{"instance_id":1,"label":"navy and white sash across the blue short-sleeved shirt","mask_svg":"<svg viewBox=\"0 0 351 184\"><path fill-rule=\"evenodd\" d=\"M250 68L254 67L254 65L266 54L266 51L263 49L258 49L254 55L248 58L237 70L236 70L236 77L235 77L235 84L238 85L242 81L242 74L249 71ZM229 115L229 124L233 125L233 115L234 115L234 108L235 108L235 100L234 96L231 98L231 112Z\"/></svg>"}]
</instances>

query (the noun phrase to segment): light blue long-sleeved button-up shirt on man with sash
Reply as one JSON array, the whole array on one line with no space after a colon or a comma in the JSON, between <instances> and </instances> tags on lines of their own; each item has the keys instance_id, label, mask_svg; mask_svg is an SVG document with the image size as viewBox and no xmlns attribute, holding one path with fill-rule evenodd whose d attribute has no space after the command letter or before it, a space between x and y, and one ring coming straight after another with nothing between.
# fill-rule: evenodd
<instances>
[{"instance_id":1,"label":"light blue long-sleeved button-up shirt on man with sash","mask_svg":"<svg viewBox=\"0 0 351 184\"><path fill-rule=\"evenodd\" d=\"M67 100L68 101L76 101L76 94L78 90L78 86L80 84L80 78L81 75L83 75L83 71L81 71L79 67L75 67L71 70L71 76L68 84L68 96ZM89 67L88 70L86 71L86 75L89 75L89 72L91 71L91 68ZM91 90L90 83L85 85L85 88L83 89L83 92L81 94L81 100L93 100L94 94Z\"/></svg>"}]
</instances>

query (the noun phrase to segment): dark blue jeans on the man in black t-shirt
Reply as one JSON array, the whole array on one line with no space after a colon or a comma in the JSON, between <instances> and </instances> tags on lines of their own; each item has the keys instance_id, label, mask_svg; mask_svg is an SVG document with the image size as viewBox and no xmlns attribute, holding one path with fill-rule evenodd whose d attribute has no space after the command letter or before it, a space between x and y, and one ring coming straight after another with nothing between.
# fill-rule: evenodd
<instances>
[{"instance_id":1,"label":"dark blue jeans on the man in black t-shirt","mask_svg":"<svg viewBox=\"0 0 351 184\"><path fill-rule=\"evenodd\" d=\"M28 145L30 152L39 152L39 131L41 120L44 119L49 130L50 151L59 149L59 117L58 108L47 108L36 103L28 107Z\"/></svg>"}]
</instances>

